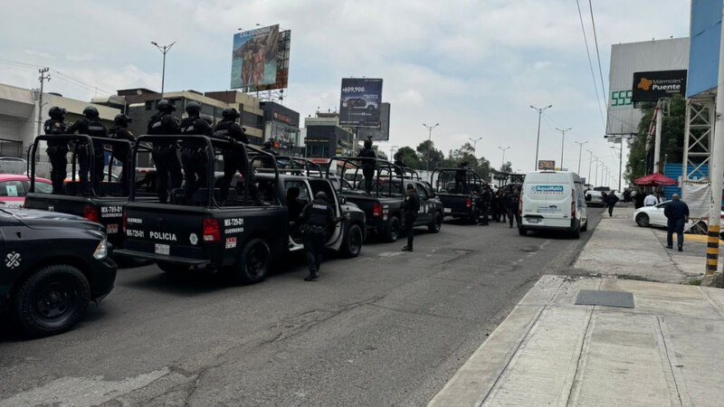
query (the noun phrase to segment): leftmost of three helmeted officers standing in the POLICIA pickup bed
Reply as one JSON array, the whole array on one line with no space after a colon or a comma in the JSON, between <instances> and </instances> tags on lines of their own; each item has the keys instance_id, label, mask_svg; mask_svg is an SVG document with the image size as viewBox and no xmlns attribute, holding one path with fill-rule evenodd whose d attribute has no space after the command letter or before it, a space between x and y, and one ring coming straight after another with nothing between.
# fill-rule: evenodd
<instances>
[{"instance_id":1,"label":"leftmost of three helmeted officers standing in the POLICIA pickup bed","mask_svg":"<svg viewBox=\"0 0 724 407\"><path fill-rule=\"evenodd\" d=\"M178 119L173 116L176 108L167 99L161 99L156 106L157 113L148 120L147 133L150 135L173 136L181 134ZM158 202L166 204L168 190L181 186L181 163L178 161L176 140L154 141L151 156L158 176ZM170 185L169 185L170 178Z\"/></svg>"}]
</instances>

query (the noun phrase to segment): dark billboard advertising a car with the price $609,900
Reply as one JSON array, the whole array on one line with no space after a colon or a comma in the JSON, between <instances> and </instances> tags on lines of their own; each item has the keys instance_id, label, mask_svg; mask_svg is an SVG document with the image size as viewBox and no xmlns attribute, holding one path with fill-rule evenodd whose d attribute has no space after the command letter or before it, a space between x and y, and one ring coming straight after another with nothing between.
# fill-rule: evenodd
<instances>
[{"instance_id":1,"label":"dark billboard advertising a car with the price $609,900","mask_svg":"<svg viewBox=\"0 0 724 407\"><path fill-rule=\"evenodd\" d=\"M343 78L339 98L339 125L378 128L381 103L381 79Z\"/></svg>"}]
</instances>

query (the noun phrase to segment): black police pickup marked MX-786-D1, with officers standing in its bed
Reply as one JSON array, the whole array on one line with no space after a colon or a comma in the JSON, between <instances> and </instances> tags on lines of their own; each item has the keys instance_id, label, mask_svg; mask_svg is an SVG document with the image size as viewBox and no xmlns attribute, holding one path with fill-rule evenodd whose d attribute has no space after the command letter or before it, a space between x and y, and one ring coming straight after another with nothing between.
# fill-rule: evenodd
<instances>
[{"instance_id":1,"label":"black police pickup marked MX-786-D1, with officers standing in its bed","mask_svg":"<svg viewBox=\"0 0 724 407\"><path fill-rule=\"evenodd\" d=\"M69 143L73 143L76 148L71 150L71 171L69 171L70 179L63 183L62 194L38 194L35 185L35 159L38 154L38 147L41 141L62 140L65 139ZM114 138L102 138L105 145L110 147L125 147L130 149L128 140L119 140ZM77 179L78 175L78 148L87 148L88 155L93 156L93 143L90 137L86 135L52 135L35 137L33 146L28 149L28 163L30 165L30 193L25 197L24 207L28 209L39 209L50 212L70 213L82 216L90 222L97 222L105 226L108 239L115 248L122 247L123 233L121 231L121 220L123 217L123 207L128 203L129 197L124 191L121 183L113 179L112 163L108 171L104 173L104 180L100 182L100 190L92 187L89 181L88 194L85 196L80 194L81 182ZM142 148L142 151L144 149ZM90 159L90 174L95 174L95 162Z\"/></svg>"}]
</instances>

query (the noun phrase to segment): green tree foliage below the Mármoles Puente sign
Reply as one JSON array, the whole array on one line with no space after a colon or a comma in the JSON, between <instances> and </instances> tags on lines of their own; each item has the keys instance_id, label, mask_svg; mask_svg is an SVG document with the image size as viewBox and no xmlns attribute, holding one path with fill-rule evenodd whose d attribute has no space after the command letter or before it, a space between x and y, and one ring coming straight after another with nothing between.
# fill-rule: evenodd
<instances>
[{"instance_id":1,"label":"green tree foliage below the M\u00e1rmoles Puente sign","mask_svg":"<svg viewBox=\"0 0 724 407\"><path fill-rule=\"evenodd\" d=\"M686 100L681 96L669 102L667 115L663 117L661 159L667 163L681 163L683 160L684 128L686 125ZM647 147L653 150L654 137L648 141L647 134L653 119L653 109L643 109L638 134L629 141L629 156L624 177L629 181L646 175Z\"/></svg>"}]
</instances>

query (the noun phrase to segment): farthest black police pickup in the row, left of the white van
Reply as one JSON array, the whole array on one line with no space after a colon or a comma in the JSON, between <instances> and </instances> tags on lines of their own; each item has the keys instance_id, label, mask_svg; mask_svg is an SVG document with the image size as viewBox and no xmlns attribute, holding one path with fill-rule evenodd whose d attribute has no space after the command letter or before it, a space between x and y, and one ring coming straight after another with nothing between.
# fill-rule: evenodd
<instances>
[{"instance_id":1,"label":"farthest black police pickup in the row, left of the white van","mask_svg":"<svg viewBox=\"0 0 724 407\"><path fill-rule=\"evenodd\" d=\"M430 182L443 203L444 216L478 222L477 201L484 184L480 175L467 168L435 168Z\"/></svg>"}]
</instances>

